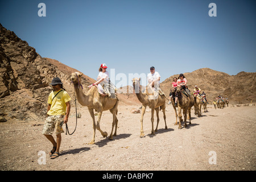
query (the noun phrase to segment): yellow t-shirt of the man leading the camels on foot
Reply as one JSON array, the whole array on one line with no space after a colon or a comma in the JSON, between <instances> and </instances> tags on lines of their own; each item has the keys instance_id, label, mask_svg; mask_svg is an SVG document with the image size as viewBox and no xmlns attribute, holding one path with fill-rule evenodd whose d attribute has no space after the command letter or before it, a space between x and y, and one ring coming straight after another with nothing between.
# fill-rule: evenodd
<instances>
[{"instance_id":1,"label":"yellow t-shirt of the man leading the camels on foot","mask_svg":"<svg viewBox=\"0 0 256 182\"><path fill-rule=\"evenodd\" d=\"M59 90L60 91L60 90ZM66 113L66 102L70 101L68 93L63 90L60 93L52 91L48 97L48 104L51 104L51 109L47 112L48 115L65 115ZM57 94L58 93L58 94ZM52 98L57 96L52 100Z\"/></svg>"}]
</instances>

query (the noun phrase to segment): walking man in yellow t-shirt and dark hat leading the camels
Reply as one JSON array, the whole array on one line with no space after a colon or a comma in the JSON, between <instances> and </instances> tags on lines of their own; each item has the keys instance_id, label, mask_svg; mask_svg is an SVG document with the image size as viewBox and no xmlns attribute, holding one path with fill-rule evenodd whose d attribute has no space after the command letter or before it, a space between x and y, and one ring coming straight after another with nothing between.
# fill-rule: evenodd
<instances>
[{"instance_id":1,"label":"walking man in yellow t-shirt and dark hat leading the camels","mask_svg":"<svg viewBox=\"0 0 256 182\"><path fill-rule=\"evenodd\" d=\"M53 78L50 85L52 85L53 92L48 97L47 118L44 122L42 134L53 144L49 155L51 155L51 159L55 159L60 156L61 133L64 133L62 125L68 122L71 98L63 89L60 78ZM55 129L56 142L52 137Z\"/></svg>"}]
</instances>

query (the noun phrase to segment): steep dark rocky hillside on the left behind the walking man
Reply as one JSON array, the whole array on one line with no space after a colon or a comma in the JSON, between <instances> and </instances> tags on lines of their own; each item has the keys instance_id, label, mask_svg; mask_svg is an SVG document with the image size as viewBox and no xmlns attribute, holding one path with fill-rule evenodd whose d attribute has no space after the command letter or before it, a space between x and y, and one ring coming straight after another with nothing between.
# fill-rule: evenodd
<instances>
[{"instance_id":1,"label":"steep dark rocky hillside on the left behind the walking man","mask_svg":"<svg viewBox=\"0 0 256 182\"><path fill-rule=\"evenodd\" d=\"M73 97L68 67L58 69L51 59L41 57L10 30L0 24L0 113L7 120L38 120L46 116L47 98L53 77L60 77ZM82 83L92 80L85 76Z\"/></svg>"}]
</instances>

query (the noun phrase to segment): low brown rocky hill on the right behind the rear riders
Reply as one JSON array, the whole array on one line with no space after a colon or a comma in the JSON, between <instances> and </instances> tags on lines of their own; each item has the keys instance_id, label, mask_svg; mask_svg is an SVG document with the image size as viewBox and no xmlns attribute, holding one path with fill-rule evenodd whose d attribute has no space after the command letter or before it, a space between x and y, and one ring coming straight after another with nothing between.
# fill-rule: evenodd
<instances>
[{"instance_id":1,"label":"low brown rocky hill on the right behind the rear riders","mask_svg":"<svg viewBox=\"0 0 256 182\"><path fill-rule=\"evenodd\" d=\"M187 78L189 89L192 91L195 85L207 94L209 101L217 96L229 98L230 103L245 104L256 101L256 73L240 72L237 75L228 75L224 72L214 71L209 68L201 68L191 73L183 73ZM160 86L164 93L169 94L173 75L164 80Z\"/></svg>"}]
</instances>

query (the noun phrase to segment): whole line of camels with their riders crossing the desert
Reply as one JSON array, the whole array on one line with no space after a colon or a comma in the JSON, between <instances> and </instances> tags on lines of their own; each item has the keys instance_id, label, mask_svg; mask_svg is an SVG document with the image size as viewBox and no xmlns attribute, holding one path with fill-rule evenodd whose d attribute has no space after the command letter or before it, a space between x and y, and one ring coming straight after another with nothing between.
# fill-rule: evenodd
<instances>
[{"instance_id":1,"label":"whole line of camels with their riders crossing the desert","mask_svg":"<svg viewBox=\"0 0 256 182\"><path fill-rule=\"evenodd\" d=\"M112 130L109 139L113 139L113 136L117 135L117 110L118 110L118 97L117 88L110 82L109 73L106 71L106 64L102 64L99 69L99 75L97 81L94 84L88 86L88 92L83 92L81 85L82 73L75 72L71 75L71 81L73 83L77 101L82 106L87 106L90 116L93 120L93 138L90 144L95 143L96 129L101 132L103 137L108 137L106 131L102 131L100 128L101 115L103 111L109 110L113 114ZM141 134L140 137L144 137L143 131L143 116L146 111L146 107L151 109L151 135L155 135L158 131L158 124L160 121L159 111L163 111L163 118L165 123L165 129L167 129L166 124L166 102L168 98L160 89L159 86L160 75L155 71L154 67L150 68L150 73L147 75L148 85L146 89L141 90L140 81L141 78L133 78L133 88L138 101L142 104L141 113ZM181 122L184 121L184 127L187 127L187 120L189 125L191 124L191 109L194 106L195 115L201 116L201 110L207 112L207 98L205 93L200 93L201 89L195 86L193 94L190 92L187 86L187 79L181 73L178 78L175 77L174 82L172 82L172 88L170 92L170 100L168 104L172 104L175 111L176 122L175 125L179 125L178 129L181 129ZM216 102L217 105L218 102ZM221 103L221 101L220 101ZM97 119L94 117L94 110L97 111ZM156 127L154 129L154 113L156 112ZM179 124L177 122L179 118ZM97 122L96 122L97 120ZM114 134L113 134L114 132Z\"/></svg>"}]
</instances>

